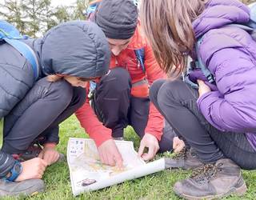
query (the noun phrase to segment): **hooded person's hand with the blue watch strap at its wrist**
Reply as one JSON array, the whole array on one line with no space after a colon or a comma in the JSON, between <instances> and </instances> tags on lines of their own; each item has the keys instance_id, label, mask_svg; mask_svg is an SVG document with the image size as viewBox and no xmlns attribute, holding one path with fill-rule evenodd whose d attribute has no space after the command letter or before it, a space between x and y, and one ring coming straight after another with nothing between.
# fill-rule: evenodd
<instances>
[{"instance_id":1,"label":"hooded person's hand with the blue watch strap at its wrist","mask_svg":"<svg viewBox=\"0 0 256 200\"><path fill-rule=\"evenodd\" d=\"M22 164L22 173L18 175L15 182L22 182L27 179L42 178L42 174L46 170L47 162L41 158L33 158Z\"/></svg>"}]
</instances>

